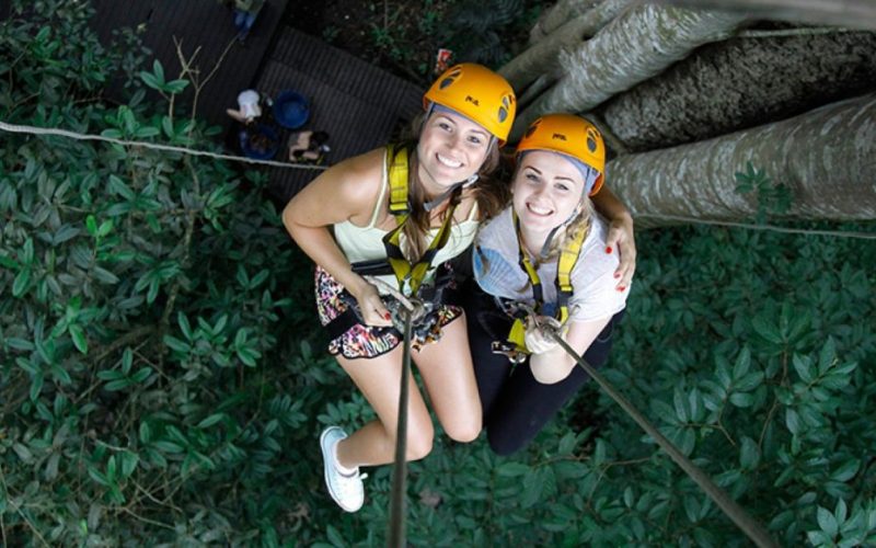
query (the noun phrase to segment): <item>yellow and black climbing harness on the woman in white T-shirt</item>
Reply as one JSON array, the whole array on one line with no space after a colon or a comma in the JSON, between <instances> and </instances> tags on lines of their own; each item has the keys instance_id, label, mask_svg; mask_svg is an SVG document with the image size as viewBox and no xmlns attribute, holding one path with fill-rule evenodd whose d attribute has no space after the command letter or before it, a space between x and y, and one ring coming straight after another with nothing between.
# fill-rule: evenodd
<instances>
[{"instance_id":1,"label":"yellow and black climbing harness on the woman in white T-shirt","mask_svg":"<svg viewBox=\"0 0 876 548\"><path fill-rule=\"evenodd\" d=\"M520 221L517 218L516 213L511 212L511 215L514 219L514 226L517 231L519 256L518 262L520 264L520 269L522 269L522 271L526 272L527 277L529 277L529 284L532 287L532 298L535 301L535 305L534 307L530 308L518 302L498 299L500 308L514 318L514 323L511 324L511 329L506 341L496 341L493 343L493 353L505 354L512 363L520 364L525 362L527 355L529 355L529 350L527 350L525 340L525 320L530 315L538 317L542 313L542 307L544 306L544 292L542 289L541 279L539 278L537 267L529 260L529 253L523 246L523 239L520 233ZM560 251L560 259L556 265L556 279L554 281L554 284L556 286L557 300L555 319L561 326L568 320L568 301L573 295L572 270L578 262L578 256L580 255L581 248L584 247L584 240L587 238L587 232L588 230L584 229L576 235L575 238L569 238L563 246L563 249ZM540 259L542 259L542 256L540 256Z\"/></svg>"}]
</instances>

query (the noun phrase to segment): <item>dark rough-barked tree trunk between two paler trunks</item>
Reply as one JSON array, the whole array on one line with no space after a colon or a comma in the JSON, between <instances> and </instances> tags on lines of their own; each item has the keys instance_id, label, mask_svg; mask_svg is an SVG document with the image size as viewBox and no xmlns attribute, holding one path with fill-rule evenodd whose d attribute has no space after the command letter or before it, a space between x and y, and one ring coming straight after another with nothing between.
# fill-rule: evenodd
<instances>
[{"instance_id":1,"label":"dark rough-barked tree trunk between two paler trunks","mask_svg":"<svg viewBox=\"0 0 876 548\"><path fill-rule=\"evenodd\" d=\"M876 91L874 82L876 33L734 38L611 99L602 114L630 151L653 150Z\"/></svg>"}]
</instances>

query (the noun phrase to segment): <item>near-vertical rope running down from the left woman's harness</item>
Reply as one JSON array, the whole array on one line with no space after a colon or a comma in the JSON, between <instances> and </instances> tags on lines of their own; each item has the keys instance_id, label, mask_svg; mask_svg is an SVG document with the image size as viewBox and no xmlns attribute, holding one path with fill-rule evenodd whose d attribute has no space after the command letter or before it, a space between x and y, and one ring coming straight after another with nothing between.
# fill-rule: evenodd
<instances>
[{"instance_id":1,"label":"near-vertical rope running down from the left woman's harness","mask_svg":"<svg viewBox=\"0 0 876 548\"><path fill-rule=\"evenodd\" d=\"M390 500L390 532L387 546L405 546L405 475L407 473L407 385L411 375L411 310L402 308L404 318L404 350L402 353L402 386L399 390L399 423L395 429L395 464L392 468Z\"/></svg>"}]
</instances>

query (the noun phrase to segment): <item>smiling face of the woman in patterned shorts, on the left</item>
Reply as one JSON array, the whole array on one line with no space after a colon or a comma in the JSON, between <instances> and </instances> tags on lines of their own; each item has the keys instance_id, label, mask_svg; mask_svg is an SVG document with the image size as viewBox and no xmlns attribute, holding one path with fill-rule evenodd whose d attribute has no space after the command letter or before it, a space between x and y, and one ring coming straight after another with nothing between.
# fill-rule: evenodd
<instances>
[{"instance_id":1,"label":"smiling face of the woman in patterned shorts, on the left","mask_svg":"<svg viewBox=\"0 0 876 548\"><path fill-rule=\"evenodd\" d=\"M465 116L435 110L417 145L418 174L426 191L438 194L477 173L489 151L491 135Z\"/></svg>"}]
</instances>

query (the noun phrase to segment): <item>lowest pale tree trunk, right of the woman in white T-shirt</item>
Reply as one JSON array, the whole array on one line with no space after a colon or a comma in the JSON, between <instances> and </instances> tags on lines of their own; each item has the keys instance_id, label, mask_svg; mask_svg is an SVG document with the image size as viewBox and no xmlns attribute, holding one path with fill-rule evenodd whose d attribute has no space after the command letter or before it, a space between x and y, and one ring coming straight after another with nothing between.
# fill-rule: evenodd
<instances>
[{"instance_id":1,"label":"lowest pale tree trunk, right of the woman in white T-shirt","mask_svg":"<svg viewBox=\"0 0 876 548\"><path fill-rule=\"evenodd\" d=\"M736 192L747 162L792 193L789 217L876 218L876 93L707 141L621 156L607 181L642 227L752 217L757 199Z\"/></svg>"}]
</instances>

